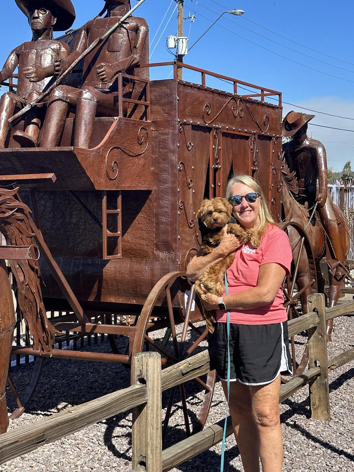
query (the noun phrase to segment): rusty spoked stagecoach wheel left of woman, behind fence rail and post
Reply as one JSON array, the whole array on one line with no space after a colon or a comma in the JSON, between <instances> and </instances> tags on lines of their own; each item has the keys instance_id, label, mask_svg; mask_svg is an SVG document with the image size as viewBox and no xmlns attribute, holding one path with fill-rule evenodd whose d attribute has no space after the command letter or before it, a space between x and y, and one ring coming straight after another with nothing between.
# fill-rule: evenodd
<instances>
[{"instance_id":1,"label":"rusty spoked stagecoach wheel left of woman, behind fence rail and post","mask_svg":"<svg viewBox=\"0 0 354 472\"><path fill-rule=\"evenodd\" d=\"M184 292L188 289L191 294L185 306ZM185 272L171 272L159 280L146 299L136 325L132 355L155 350L165 368L206 349L207 334L198 297L194 302L194 286L187 282ZM203 429L215 381L216 372L211 371L164 392L163 440L176 425L184 424L187 436Z\"/></svg>"}]
</instances>

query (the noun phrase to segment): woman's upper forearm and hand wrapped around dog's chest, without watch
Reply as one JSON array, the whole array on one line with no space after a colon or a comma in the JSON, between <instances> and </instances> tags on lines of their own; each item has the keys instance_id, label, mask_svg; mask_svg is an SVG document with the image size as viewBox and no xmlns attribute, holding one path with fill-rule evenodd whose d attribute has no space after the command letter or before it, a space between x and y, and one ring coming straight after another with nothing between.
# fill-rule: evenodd
<instances>
[{"instance_id":1,"label":"woman's upper forearm and hand wrapped around dog's chest, without watch","mask_svg":"<svg viewBox=\"0 0 354 472\"><path fill-rule=\"evenodd\" d=\"M234 235L227 233L228 225L224 228L223 236L218 247L209 254L202 256L198 253L187 266L187 278L195 282L210 267L221 262L228 254L233 253L240 246L240 242Z\"/></svg>"}]
</instances>

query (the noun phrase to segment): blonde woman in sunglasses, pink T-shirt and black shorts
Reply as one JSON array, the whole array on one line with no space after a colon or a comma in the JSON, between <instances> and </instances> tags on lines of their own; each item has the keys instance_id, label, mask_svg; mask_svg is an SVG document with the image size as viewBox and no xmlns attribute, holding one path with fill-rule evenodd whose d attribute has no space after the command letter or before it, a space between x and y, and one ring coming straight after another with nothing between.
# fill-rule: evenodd
<instances>
[{"instance_id":1,"label":"blonde woman in sunglasses, pink T-shirt and black shorts","mask_svg":"<svg viewBox=\"0 0 354 472\"><path fill-rule=\"evenodd\" d=\"M216 310L209 334L211 364L227 396L227 312L230 312L229 410L245 472L281 472L283 440L279 416L280 373L291 374L287 313L282 287L290 272L292 253L286 233L272 219L261 186L248 175L232 177L226 198L244 229L257 229L261 245L240 246L224 236L212 253L195 256L187 267L196 280L212 265L236 251L227 270L228 295L202 295L207 310Z\"/></svg>"}]
</instances>

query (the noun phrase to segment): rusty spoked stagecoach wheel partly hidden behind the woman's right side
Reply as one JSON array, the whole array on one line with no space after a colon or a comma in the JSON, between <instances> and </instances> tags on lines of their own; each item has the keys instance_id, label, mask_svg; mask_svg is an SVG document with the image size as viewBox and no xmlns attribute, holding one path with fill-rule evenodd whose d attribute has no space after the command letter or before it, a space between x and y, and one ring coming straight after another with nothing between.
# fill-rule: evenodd
<instances>
[{"instance_id":1,"label":"rusty spoked stagecoach wheel partly hidden behind the woman's right side","mask_svg":"<svg viewBox=\"0 0 354 472\"><path fill-rule=\"evenodd\" d=\"M288 320L293 320L307 313L307 295L317 292L316 264L303 228L294 221L284 223L281 228L289 236L293 253L291 274L286 277L283 289L287 317ZM303 277L303 273L308 275ZM308 337L308 331L290 337L293 376L283 376L283 383L301 375L306 369L309 361Z\"/></svg>"}]
</instances>

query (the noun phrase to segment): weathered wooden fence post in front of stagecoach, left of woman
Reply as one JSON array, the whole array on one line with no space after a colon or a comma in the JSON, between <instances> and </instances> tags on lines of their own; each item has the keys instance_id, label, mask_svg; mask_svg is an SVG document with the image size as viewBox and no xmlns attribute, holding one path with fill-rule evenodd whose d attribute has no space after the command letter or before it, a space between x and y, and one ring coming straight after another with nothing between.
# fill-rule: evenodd
<instances>
[{"instance_id":1,"label":"weathered wooden fence post in front of stagecoach, left of woman","mask_svg":"<svg viewBox=\"0 0 354 472\"><path fill-rule=\"evenodd\" d=\"M162 472L162 390L161 356L138 353L132 362L132 383L146 384L146 404L133 409L132 468Z\"/></svg>"}]
</instances>

